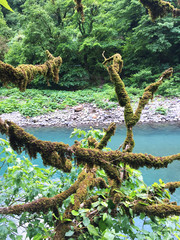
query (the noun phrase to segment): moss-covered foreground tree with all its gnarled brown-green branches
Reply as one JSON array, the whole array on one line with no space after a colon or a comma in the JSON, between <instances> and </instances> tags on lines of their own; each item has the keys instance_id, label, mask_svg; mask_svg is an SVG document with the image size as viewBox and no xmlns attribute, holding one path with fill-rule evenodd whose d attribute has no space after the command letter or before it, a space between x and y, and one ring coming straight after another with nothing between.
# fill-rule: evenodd
<instances>
[{"instance_id":1,"label":"moss-covered foreground tree with all its gnarled brown-green branches","mask_svg":"<svg viewBox=\"0 0 180 240\"><path fill-rule=\"evenodd\" d=\"M161 13L159 15L162 16ZM21 65L19 68L13 68L9 64L0 62L0 80L3 83L14 83L14 79L16 79L15 84L19 89L25 90L26 83L30 82L32 76L37 72L43 75L49 73L49 76L55 76L56 79L61 58L54 58L50 53L48 53L48 56L50 60L39 66ZM152 219L155 216L166 218L172 215L180 215L180 206L167 199L168 195L165 190L169 189L173 193L176 188L180 187L180 182L155 184L151 189L139 189L138 194L137 192L130 194L128 191L134 169L142 166L163 168L174 160L180 160L180 153L165 157L132 153L135 144L133 127L139 121L145 105L150 99L153 99L154 93L163 84L163 81L172 75L173 69L169 68L164 71L158 81L145 88L138 107L133 112L130 98L120 77L123 68L121 55L114 54L112 57L106 58L103 53L103 57L103 65L107 68L110 80L114 84L119 105L124 108L127 135L121 146L122 151L120 149L103 151L111 136L115 134L116 126L114 123L111 123L104 130L104 135L99 142L95 138L89 137L86 148L78 141L75 141L72 146L62 142L41 141L13 122L0 120L0 132L9 137L10 145L17 153L26 151L30 158L36 158L39 153L44 165L53 166L66 173L71 172L73 161L76 162L77 168L83 166L77 180L63 192L53 197L33 199L31 202L13 206L7 204L7 206L0 208L0 214L4 215L20 215L24 212L45 214L51 211L55 228L54 239L69 239L71 236L75 239L84 239L83 234L86 239L99 239L100 237L100 239L110 237L114 239L115 236L124 236L122 233L117 235L115 231L113 233L106 231L106 224L101 229L98 229L95 216L99 217L100 215L103 216L101 223L105 222L108 215L116 218L120 212L131 223L133 218L138 215L141 215L141 217L149 216ZM56 60L58 67L55 64ZM14 75L13 78L11 74ZM101 176L98 175L100 169ZM126 185L126 190L123 189L123 184ZM96 188L102 190L98 194L95 191L94 194L89 196L88 192ZM63 202L69 197L71 201L66 207L63 216L61 216ZM96 208L99 205L103 206L103 208ZM91 208L92 206L94 209ZM81 219L76 218L77 216ZM124 233L135 239L134 233L125 231L124 229ZM89 235L86 234L87 232ZM90 235L91 237L89 237ZM41 239L41 236L39 239Z\"/></svg>"}]
</instances>

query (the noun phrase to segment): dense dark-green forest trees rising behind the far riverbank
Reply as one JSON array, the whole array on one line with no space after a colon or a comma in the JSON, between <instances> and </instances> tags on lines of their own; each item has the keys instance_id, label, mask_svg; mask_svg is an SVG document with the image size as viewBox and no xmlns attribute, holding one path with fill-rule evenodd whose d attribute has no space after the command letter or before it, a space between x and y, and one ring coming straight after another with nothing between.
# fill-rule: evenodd
<instances>
[{"instance_id":1,"label":"dense dark-green forest trees rising behind the far riverbank","mask_svg":"<svg viewBox=\"0 0 180 240\"><path fill-rule=\"evenodd\" d=\"M170 66L174 68L175 81L168 88L176 89L180 85L180 20L171 13L152 22L138 0L84 0L82 20L75 11L77 2L81 1L8 2L14 12L1 10L0 60L14 67L23 63L39 64L48 49L63 59L60 81L52 84L54 89L82 89L108 82L101 64L103 51L107 56L121 52L127 86L143 89ZM177 1L171 1L170 5L176 8ZM31 86L46 88L46 83L43 78L37 78Z\"/></svg>"}]
</instances>

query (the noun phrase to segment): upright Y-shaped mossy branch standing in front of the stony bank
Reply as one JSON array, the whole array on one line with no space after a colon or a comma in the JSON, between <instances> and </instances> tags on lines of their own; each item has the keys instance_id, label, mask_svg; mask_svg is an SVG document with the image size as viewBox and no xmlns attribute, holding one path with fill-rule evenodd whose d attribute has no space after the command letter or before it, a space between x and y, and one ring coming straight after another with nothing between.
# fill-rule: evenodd
<instances>
[{"instance_id":1,"label":"upright Y-shaped mossy branch standing in front of the stony bank","mask_svg":"<svg viewBox=\"0 0 180 240\"><path fill-rule=\"evenodd\" d=\"M157 82L152 83L147 88L145 88L144 94L139 101L137 110L134 113L133 108L131 106L130 97L125 89L124 82L122 81L119 75L123 67L123 60L121 55L116 53L110 58L105 58L103 53L103 57L105 59L103 64L108 70L110 80L115 85L115 92L118 98L119 105L121 107L124 107L124 120L127 127L127 135L123 144L123 152L132 152L135 145L132 128L139 121L142 110L144 109L148 101L153 98L153 94L156 92L158 87L163 83L163 80L172 75L173 69L169 68L166 71L164 71Z\"/></svg>"}]
</instances>

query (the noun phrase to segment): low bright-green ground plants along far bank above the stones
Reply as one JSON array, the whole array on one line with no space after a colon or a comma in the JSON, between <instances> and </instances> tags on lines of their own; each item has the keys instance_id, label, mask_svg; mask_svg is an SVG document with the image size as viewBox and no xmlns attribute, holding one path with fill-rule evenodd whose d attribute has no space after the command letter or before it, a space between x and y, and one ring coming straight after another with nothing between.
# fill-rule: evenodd
<instances>
[{"instance_id":1,"label":"low bright-green ground plants along far bank above the stones","mask_svg":"<svg viewBox=\"0 0 180 240\"><path fill-rule=\"evenodd\" d=\"M127 90L133 99L142 94L139 89L127 88ZM17 88L0 88L0 96L0 114L16 111L26 117L38 116L82 103L93 103L103 109L117 107L114 88L108 84L102 88L78 91L27 89L25 92L20 92Z\"/></svg>"}]
</instances>

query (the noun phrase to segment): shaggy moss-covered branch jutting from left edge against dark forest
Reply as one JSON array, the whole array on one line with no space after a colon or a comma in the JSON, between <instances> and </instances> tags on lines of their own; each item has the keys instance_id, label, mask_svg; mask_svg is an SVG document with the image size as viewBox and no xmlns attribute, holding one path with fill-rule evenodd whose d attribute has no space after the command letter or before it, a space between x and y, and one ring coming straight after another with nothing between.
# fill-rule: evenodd
<instances>
[{"instance_id":1,"label":"shaggy moss-covered branch jutting from left edge against dark forest","mask_svg":"<svg viewBox=\"0 0 180 240\"><path fill-rule=\"evenodd\" d=\"M46 54L48 60L41 65L22 64L15 68L0 61L0 81L5 85L12 83L20 91L25 91L27 84L37 75L43 75L47 79L52 78L55 83L58 83L62 58L53 57L48 50Z\"/></svg>"}]
</instances>

